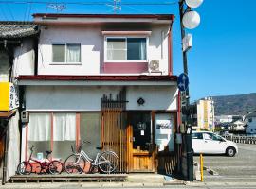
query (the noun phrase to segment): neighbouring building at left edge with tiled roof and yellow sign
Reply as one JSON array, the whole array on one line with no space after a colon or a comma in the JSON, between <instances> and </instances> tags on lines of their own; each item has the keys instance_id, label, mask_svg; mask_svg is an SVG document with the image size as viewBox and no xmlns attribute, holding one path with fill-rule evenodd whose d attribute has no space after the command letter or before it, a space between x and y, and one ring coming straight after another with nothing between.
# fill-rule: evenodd
<instances>
[{"instance_id":1,"label":"neighbouring building at left edge with tiled roof and yellow sign","mask_svg":"<svg viewBox=\"0 0 256 189\"><path fill-rule=\"evenodd\" d=\"M37 34L37 27L31 23L0 22L0 178L3 182L15 174L20 162L21 128L15 77L33 69Z\"/></svg>"}]
</instances>

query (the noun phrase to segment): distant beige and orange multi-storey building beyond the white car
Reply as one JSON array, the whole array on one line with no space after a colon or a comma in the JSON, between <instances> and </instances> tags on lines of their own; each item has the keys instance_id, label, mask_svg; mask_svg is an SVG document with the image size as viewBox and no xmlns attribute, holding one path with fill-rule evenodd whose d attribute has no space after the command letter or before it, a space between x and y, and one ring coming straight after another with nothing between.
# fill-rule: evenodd
<instances>
[{"instance_id":1,"label":"distant beige and orange multi-storey building beyond the white car","mask_svg":"<svg viewBox=\"0 0 256 189\"><path fill-rule=\"evenodd\" d=\"M214 101L211 97L200 99L192 105L192 129L214 130Z\"/></svg>"}]
</instances>

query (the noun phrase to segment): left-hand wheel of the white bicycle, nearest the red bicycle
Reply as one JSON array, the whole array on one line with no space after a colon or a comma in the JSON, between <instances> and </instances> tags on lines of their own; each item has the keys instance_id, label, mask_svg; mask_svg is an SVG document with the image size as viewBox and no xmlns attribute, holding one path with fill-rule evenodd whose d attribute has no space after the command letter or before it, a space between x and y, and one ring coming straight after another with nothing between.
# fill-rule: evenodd
<instances>
[{"instance_id":1,"label":"left-hand wheel of the white bicycle, nearest the red bicycle","mask_svg":"<svg viewBox=\"0 0 256 189\"><path fill-rule=\"evenodd\" d=\"M80 155L72 154L64 161L64 169L67 173L82 173L85 161Z\"/></svg>"}]
</instances>

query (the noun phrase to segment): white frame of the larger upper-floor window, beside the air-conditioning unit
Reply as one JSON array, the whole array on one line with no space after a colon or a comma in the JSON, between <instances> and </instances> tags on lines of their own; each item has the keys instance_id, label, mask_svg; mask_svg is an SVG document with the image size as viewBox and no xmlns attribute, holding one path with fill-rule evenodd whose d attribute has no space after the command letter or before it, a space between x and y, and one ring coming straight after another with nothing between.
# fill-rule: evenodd
<instances>
[{"instance_id":1,"label":"white frame of the larger upper-floor window, beside the air-conditioning unit","mask_svg":"<svg viewBox=\"0 0 256 189\"><path fill-rule=\"evenodd\" d=\"M128 38L144 38L146 39L146 59L145 60L107 60L107 39L125 39L125 49L126 49L126 59L127 59L127 39ZM149 50L149 36L139 36L139 35L135 35L135 36L117 36L117 35L109 35L109 36L104 36L104 62L117 62L117 63L121 63L121 62L148 62L148 50Z\"/></svg>"}]
</instances>

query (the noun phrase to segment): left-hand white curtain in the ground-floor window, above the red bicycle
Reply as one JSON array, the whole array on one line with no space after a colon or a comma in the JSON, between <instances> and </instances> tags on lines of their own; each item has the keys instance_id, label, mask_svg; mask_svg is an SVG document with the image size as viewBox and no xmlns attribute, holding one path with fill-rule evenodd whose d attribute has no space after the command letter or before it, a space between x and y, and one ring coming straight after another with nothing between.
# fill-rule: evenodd
<instances>
[{"instance_id":1,"label":"left-hand white curtain in the ground-floor window, above the red bicycle","mask_svg":"<svg viewBox=\"0 0 256 189\"><path fill-rule=\"evenodd\" d=\"M28 141L50 140L50 113L30 113Z\"/></svg>"}]
</instances>

